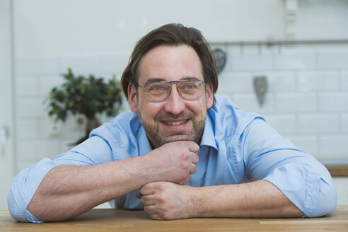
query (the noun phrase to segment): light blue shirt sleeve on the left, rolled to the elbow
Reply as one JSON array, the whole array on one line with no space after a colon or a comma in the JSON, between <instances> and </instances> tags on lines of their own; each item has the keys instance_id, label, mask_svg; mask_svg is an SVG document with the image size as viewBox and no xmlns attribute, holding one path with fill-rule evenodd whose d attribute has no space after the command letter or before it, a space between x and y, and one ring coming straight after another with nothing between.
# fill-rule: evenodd
<instances>
[{"instance_id":1,"label":"light blue shirt sleeve on the left, rolled to the elbow","mask_svg":"<svg viewBox=\"0 0 348 232\"><path fill-rule=\"evenodd\" d=\"M92 166L113 161L112 151L107 141L101 137L91 137L82 144L54 159L43 158L29 168L21 170L11 181L8 193L8 211L13 219L23 222L40 223L26 209L45 175L59 165Z\"/></svg>"}]
</instances>

